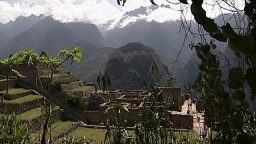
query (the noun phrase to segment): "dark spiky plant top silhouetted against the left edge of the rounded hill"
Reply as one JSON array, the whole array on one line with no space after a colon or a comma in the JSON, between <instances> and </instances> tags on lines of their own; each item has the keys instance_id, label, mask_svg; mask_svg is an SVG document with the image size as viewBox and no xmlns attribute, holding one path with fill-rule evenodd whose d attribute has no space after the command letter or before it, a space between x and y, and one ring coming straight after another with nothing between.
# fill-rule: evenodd
<instances>
[{"instance_id":1,"label":"dark spiky plant top silhouetted against the left edge of the rounded hill","mask_svg":"<svg viewBox=\"0 0 256 144\"><path fill-rule=\"evenodd\" d=\"M104 72L104 75L102 75L100 70L100 74L97 78L97 82L99 86L102 88L103 92L106 92L106 90L109 91L112 88L112 79L110 76L108 76L108 73L106 72L106 70Z\"/></svg>"}]
</instances>

